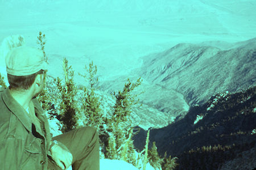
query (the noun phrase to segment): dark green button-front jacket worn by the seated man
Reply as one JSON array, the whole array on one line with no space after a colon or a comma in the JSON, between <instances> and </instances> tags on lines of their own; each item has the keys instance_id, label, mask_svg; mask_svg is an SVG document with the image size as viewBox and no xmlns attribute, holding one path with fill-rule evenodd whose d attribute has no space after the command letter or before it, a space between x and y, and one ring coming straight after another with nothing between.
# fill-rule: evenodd
<instances>
[{"instance_id":1,"label":"dark green button-front jacket worn by the seated man","mask_svg":"<svg viewBox=\"0 0 256 170\"><path fill-rule=\"evenodd\" d=\"M26 110L11 96L9 88L0 88L0 169L47 169L52 134L38 99L32 99L43 133L36 131Z\"/></svg>"}]
</instances>

